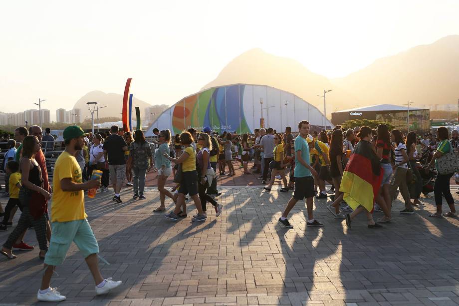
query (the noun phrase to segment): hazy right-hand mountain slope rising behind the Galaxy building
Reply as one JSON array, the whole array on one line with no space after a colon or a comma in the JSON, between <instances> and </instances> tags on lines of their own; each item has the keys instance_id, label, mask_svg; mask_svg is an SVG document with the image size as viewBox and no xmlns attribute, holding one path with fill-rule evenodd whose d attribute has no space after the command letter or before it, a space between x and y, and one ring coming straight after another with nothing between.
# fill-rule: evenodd
<instances>
[{"instance_id":1,"label":"hazy right-hand mountain slope rising behind the Galaxy building","mask_svg":"<svg viewBox=\"0 0 459 306\"><path fill-rule=\"evenodd\" d=\"M380 58L332 83L371 104L456 103L459 98L459 35L443 37Z\"/></svg>"}]
</instances>

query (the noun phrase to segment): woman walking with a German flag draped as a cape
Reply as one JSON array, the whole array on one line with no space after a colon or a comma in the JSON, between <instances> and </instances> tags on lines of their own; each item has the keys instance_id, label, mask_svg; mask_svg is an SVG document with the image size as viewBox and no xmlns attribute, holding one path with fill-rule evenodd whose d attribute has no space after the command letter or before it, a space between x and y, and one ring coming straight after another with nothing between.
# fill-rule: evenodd
<instances>
[{"instance_id":1,"label":"woman walking with a German flag draped as a cape","mask_svg":"<svg viewBox=\"0 0 459 306\"><path fill-rule=\"evenodd\" d=\"M375 201L386 207L379 193L384 172L375 147L370 143L371 128L363 126L358 137L360 141L346 165L340 185L344 201L354 209L346 215L346 225L351 227L355 216L366 210L368 227L380 228L382 225L373 220L372 212Z\"/></svg>"}]
</instances>

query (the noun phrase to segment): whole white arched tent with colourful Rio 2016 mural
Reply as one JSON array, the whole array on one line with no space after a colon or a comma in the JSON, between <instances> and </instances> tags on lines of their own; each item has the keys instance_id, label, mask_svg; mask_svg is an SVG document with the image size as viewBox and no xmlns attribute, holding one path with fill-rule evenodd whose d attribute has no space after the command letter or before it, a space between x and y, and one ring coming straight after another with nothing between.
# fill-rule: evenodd
<instances>
[{"instance_id":1,"label":"whole white arched tent with colourful Rio 2016 mural","mask_svg":"<svg viewBox=\"0 0 459 306\"><path fill-rule=\"evenodd\" d=\"M266 85L234 84L214 87L181 99L165 110L148 128L145 136L153 136L153 128L170 129L173 134L193 127L202 130L253 133L263 123L281 131L291 126L297 131L298 122L308 120L312 125L332 127L317 107L298 96Z\"/></svg>"}]
</instances>

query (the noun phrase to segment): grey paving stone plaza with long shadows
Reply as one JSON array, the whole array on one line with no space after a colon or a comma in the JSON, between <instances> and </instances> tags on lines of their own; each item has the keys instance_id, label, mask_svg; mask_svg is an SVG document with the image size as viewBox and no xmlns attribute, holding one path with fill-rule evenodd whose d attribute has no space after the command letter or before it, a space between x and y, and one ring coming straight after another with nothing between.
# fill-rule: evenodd
<instances>
[{"instance_id":1,"label":"grey paving stone plaza with long shadows","mask_svg":"<svg viewBox=\"0 0 459 306\"><path fill-rule=\"evenodd\" d=\"M147 188L145 201L129 200L128 189L122 204L112 202L110 192L86 199L100 256L110 263L100 262L101 271L124 284L95 296L72 245L52 280L67 296L61 304L459 305L459 220L428 218L433 194L421 199L426 206L414 215L399 215L397 200L394 221L378 230L366 227L365 215L348 229L332 218L325 200L314 208L325 227L307 228L299 202L290 216L294 228L287 230L277 219L289 194L261 187L222 192L222 216L209 210L204 223L191 222L190 202L190 216L178 222L153 213L159 202L154 188ZM172 204L167 201L168 210ZM1 232L1 241L10 232ZM37 244L33 230L25 241ZM38 250L15 253L16 260L0 259L0 305L34 304L42 275Z\"/></svg>"}]
</instances>

